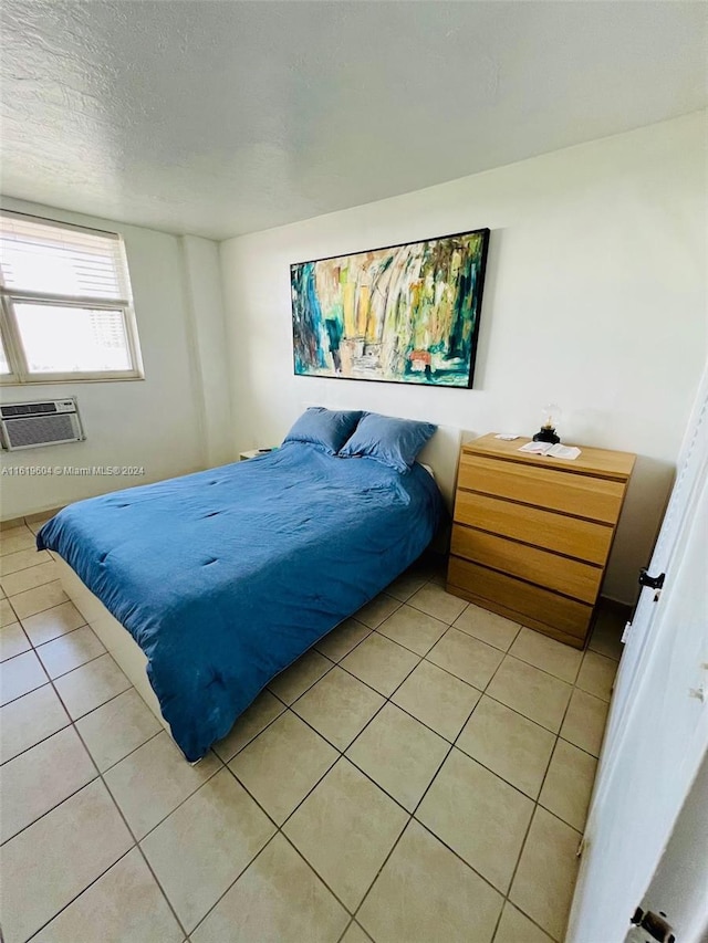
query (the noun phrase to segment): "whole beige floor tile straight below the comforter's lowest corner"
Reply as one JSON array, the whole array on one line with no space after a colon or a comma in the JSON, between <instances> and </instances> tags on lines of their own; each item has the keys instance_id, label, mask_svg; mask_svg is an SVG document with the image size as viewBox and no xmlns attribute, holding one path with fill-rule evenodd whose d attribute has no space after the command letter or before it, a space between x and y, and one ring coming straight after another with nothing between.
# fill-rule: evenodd
<instances>
[{"instance_id":1,"label":"whole beige floor tile straight below the comforter's lowest corner","mask_svg":"<svg viewBox=\"0 0 708 943\"><path fill-rule=\"evenodd\" d=\"M228 769L221 769L158 825L142 847L190 933L274 831L246 789Z\"/></svg>"}]
</instances>

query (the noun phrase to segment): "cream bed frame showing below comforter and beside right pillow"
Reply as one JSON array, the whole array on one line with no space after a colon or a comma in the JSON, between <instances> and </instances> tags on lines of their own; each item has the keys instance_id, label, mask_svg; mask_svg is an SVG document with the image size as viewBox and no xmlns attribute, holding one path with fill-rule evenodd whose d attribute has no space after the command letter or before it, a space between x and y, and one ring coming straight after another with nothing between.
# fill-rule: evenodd
<instances>
[{"instance_id":1,"label":"cream bed frame showing below comforter and beside right pillow","mask_svg":"<svg viewBox=\"0 0 708 943\"><path fill-rule=\"evenodd\" d=\"M455 500L457 462L460 451L461 431L451 426L439 426L438 431L420 452L418 461L429 465L451 512ZM147 658L133 636L108 612L103 603L83 584L74 570L59 554L53 554L64 591L111 652L138 694L155 714L171 737L169 724L163 717L159 701L147 679Z\"/></svg>"}]
</instances>

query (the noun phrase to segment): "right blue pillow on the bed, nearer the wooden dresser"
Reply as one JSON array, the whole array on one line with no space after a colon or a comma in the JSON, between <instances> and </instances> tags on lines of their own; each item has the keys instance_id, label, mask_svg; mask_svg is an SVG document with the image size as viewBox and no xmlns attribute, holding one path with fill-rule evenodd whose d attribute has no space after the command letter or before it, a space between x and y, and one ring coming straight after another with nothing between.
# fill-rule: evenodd
<instances>
[{"instance_id":1,"label":"right blue pillow on the bed, nearer the wooden dresser","mask_svg":"<svg viewBox=\"0 0 708 943\"><path fill-rule=\"evenodd\" d=\"M394 419L377 412L365 412L340 455L376 459L396 471L408 471L416 455L437 429L431 422Z\"/></svg>"}]
</instances>

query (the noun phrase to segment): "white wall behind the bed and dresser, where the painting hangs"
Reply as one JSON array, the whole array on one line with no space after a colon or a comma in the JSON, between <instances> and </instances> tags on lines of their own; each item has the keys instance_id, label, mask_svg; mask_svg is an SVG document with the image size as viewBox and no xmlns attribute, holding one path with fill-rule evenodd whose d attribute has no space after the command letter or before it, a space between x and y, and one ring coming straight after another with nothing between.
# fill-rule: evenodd
<instances>
[{"instance_id":1,"label":"white wall behind the bed and dresser, where the painting hangs","mask_svg":"<svg viewBox=\"0 0 708 943\"><path fill-rule=\"evenodd\" d=\"M706 356L704 114L221 243L238 449L306 401L637 452L604 591L631 601ZM441 143L444 146L444 143ZM294 377L292 262L490 227L475 389Z\"/></svg>"}]
</instances>

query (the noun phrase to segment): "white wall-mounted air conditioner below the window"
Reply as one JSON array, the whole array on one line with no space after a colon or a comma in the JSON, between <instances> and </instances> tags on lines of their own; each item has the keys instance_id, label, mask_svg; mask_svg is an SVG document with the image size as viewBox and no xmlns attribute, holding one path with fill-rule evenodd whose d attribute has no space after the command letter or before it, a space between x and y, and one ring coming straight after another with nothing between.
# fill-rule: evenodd
<instances>
[{"instance_id":1,"label":"white wall-mounted air conditioner below the window","mask_svg":"<svg viewBox=\"0 0 708 943\"><path fill-rule=\"evenodd\" d=\"M76 398L0 406L0 441L9 451L85 439Z\"/></svg>"}]
</instances>

